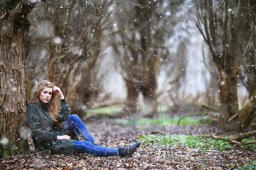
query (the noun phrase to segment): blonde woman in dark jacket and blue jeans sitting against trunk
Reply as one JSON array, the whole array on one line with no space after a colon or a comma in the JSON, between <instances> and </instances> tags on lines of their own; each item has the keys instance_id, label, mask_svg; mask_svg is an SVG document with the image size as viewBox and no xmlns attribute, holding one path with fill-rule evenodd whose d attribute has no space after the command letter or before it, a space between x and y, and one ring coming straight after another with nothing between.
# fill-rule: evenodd
<instances>
[{"instance_id":1,"label":"blonde woman in dark jacket and blue jeans sitting against trunk","mask_svg":"<svg viewBox=\"0 0 256 170\"><path fill-rule=\"evenodd\" d=\"M61 99L60 107L57 96ZM97 144L83 121L77 115L70 115L70 108L61 89L48 80L43 80L34 87L33 97L27 107L27 121L32 130L34 146L39 151L128 157L140 146L140 141L119 148L106 148ZM63 126L58 127L57 124L63 121ZM84 141L79 141L75 132Z\"/></svg>"}]
</instances>

